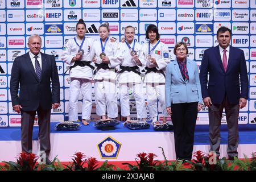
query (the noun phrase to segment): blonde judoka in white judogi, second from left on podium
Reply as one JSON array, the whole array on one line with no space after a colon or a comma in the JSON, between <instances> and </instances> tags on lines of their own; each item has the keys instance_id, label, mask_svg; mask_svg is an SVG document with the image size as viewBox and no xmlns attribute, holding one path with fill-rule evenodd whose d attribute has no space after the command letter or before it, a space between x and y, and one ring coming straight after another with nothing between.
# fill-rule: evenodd
<instances>
[{"instance_id":1,"label":"blonde judoka in white judogi, second from left on podium","mask_svg":"<svg viewBox=\"0 0 256 182\"><path fill-rule=\"evenodd\" d=\"M118 44L109 39L109 23L101 24L98 31L100 40L94 42L96 113L102 119L106 119L107 111L108 118L117 118L117 73L115 73L115 67L121 63L122 57L117 52Z\"/></svg>"}]
</instances>

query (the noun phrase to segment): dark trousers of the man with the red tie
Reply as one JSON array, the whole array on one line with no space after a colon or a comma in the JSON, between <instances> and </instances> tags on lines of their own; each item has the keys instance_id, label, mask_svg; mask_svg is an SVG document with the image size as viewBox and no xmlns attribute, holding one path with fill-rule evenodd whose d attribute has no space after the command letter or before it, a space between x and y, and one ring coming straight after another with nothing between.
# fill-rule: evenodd
<instances>
[{"instance_id":1,"label":"dark trousers of the man with the red tie","mask_svg":"<svg viewBox=\"0 0 256 182\"><path fill-rule=\"evenodd\" d=\"M220 156L220 127L222 112L225 108L226 122L228 124L228 148L227 153L230 157L238 156L237 147L239 142L238 134L238 115L239 105L230 104L228 97L225 96L221 104L213 104L209 107L209 127L210 127L210 151L215 151Z\"/></svg>"}]
</instances>

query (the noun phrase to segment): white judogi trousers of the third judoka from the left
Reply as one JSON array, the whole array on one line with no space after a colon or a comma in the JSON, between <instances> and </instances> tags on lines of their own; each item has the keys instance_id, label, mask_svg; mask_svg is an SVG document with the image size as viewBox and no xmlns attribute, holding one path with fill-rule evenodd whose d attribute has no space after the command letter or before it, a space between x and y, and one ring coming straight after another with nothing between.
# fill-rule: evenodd
<instances>
[{"instance_id":1,"label":"white judogi trousers of the third judoka from the left","mask_svg":"<svg viewBox=\"0 0 256 182\"><path fill-rule=\"evenodd\" d=\"M123 117L130 115L129 88L132 89L135 98L137 118L146 118L146 103L142 83L119 83L121 115Z\"/></svg>"}]
</instances>

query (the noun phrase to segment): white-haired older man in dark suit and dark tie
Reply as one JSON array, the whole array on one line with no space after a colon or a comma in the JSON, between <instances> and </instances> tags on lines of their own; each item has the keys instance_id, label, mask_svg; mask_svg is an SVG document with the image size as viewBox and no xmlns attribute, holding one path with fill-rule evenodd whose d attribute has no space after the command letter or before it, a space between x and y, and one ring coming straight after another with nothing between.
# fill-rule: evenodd
<instances>
[{"instance_id":1,"label":"white-haired older man in dark suit and dark tie","mask_svg":"<svg viewBox=\"0 0 256 182\"><path fill-rule=\"evenodd\" d=\"M48 159L51 109L60 106L60 83L55 58L40 52L41 43L39 35L31 35L28 39L30 51L14 60L10 91L13 109L22 116L22 151L32 152L32 131L37 112L40 151L46 156L43 161L51 164Z\"/></svg>"}]
</instances>

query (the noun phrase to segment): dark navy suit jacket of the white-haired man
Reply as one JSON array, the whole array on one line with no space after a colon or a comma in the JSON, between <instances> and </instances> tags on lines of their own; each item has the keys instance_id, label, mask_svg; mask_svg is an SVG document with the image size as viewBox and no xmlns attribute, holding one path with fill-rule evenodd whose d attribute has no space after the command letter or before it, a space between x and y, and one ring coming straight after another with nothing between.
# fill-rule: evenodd
<instances>
[{"instance_id":1,"label":"dark navy suit jacket of the white-haired man","mask_svg":"<svg viewBox=\"0 0 256 182\"><path fill-rule=\"evenodd\" d=\"M53 103L60 103L60 82L55 58L42 52L41 55L40 81L29 53L16 57L11 69L11 101L13 106L21 105L24 111L35 111L39 105L43 110L51 110Z\"/></svg>"}]
</instances>

